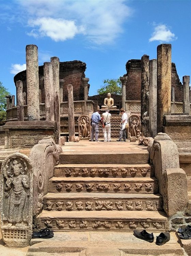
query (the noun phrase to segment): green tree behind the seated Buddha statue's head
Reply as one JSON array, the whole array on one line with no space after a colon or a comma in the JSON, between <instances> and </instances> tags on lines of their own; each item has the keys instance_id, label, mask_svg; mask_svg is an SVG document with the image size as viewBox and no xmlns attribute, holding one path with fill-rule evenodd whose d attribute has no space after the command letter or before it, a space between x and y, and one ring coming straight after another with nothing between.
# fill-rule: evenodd
<instances>
[{"instance_id":1,"label":"green tree behind the seated Buddha statue's head","mask_svg":"<svg viewBox=\"0 0 191 256\"><path fill-rule=\"evenodd\" d=\"M121 81L120 79L106 79L103 81L104 85L97 90L98 94L114 93L121 95Z\"/></svg>"}]
</instances>

